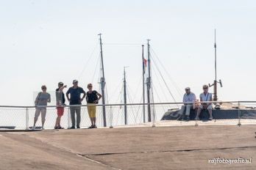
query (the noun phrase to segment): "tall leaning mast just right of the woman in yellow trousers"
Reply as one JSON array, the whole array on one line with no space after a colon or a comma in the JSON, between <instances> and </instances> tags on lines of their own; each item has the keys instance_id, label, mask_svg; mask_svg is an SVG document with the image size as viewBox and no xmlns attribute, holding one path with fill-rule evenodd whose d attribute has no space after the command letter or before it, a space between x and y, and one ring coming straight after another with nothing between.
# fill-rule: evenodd
<instances>
[{"instance_id":1,"label":"tall leaning mast just right of the woman in yellow trousers","mask_svg":"<svg viewBox=\"0 0 256 170\"><path fill-rule=\"evenodd\" d=\"M102 89L102 113L103 113L103 125L107 127L106 122L106 108L105 108L105 75L104 75L104 62L103 62L103 53L102 53L102 34L99 34L99 43L101 48L101 61L102 61L102 78L101 78L101 89Z\"/></svg>"}]
</instances>

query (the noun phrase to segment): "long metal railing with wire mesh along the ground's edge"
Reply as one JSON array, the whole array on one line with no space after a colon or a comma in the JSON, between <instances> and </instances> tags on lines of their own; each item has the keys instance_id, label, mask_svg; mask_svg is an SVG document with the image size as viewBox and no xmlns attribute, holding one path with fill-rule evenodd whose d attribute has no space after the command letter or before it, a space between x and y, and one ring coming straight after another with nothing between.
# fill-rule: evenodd
<instances>
[{"instance_id":1,"label":"long metal railing with wire mesh along the ground's edge","mask_svg":"<svg viewBox=\"0 0 256 170\"><path fill-rule=\"evenodd\" d=\"M204 102L205 103L205 102ZM179 108L184 104L199 105L196 103L132 103L127 104L127 125L124 124L124 104L106 104L96 106L96 125L103 127L102 106L106 108L107 127L118 126L164 126L164 125L243 125L256 124L256 101L218 101L222 103L221 109L214 109L213 121L207 119L190 121L177 121ZM152 107L152 122L147 122L147 107ZM146 111L146 122L143 122L143 106ZM213 105L214 106L214 105ZM71 127L70 107L65 106L61 125L65 128ZM214 108L214 107L213 107ZM196 113L197 110L193 111ZM224 112L221 112L224 111ZM230 115L221 119L221 114ZM0 127L15 127L15 129L26 129L32 127L35 117L35 106L0 106ZM170 119L163 119L169 117ZM56 106L47 106L45 128L53 128L57 118ZM37 125L40 126L40 117ZM80 127L89 127L87 105L81 106Z\"/></svg>"}]
</instances>

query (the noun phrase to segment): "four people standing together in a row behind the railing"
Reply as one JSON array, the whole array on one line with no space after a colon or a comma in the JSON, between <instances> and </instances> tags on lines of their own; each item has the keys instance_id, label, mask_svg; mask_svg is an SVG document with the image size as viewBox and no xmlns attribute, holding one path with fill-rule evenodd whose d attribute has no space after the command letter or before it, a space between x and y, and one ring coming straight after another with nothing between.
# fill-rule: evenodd
<instances>
[{"instance_id":1,"label":"four people standing together in a row behind the railing","mask_svg":"<svg viewBox=\"0 0 256 170\"><path fill-rule=\"evenodd\" d=\"M70 113L71 113L71 129L80 128L81 121L81 105L82 100L86 99L88 114L90 117L91 126L89 128L96 128L96 104L99 103L99 100L102 98L102 95L99 94L96 90L93 90L93 85L88 84L88 92L85 92L82 87L78 86L78 81L73 81L73 86L71 86L68 91L64 94L63 89L67 85L64 85L63 82L58 83L58 88L56 89L56 106L57 106L57 119L55 122L54 129L63 129L60 125L61 117L64 114L65 107L65 97L69 102ZM35 118L34 125L32 130L35 130L36 122L38 122L38 117L41 114L42 119L42 129L44 122L46 122L46 106L47 103L51 102L51 95L46 92L46 86L41 86L42 92L38 93L38 96L35 98ZM82 97L81 97L82 95ZM76 121L77 115L77 121Z\"/></svg>"}]
</instances>

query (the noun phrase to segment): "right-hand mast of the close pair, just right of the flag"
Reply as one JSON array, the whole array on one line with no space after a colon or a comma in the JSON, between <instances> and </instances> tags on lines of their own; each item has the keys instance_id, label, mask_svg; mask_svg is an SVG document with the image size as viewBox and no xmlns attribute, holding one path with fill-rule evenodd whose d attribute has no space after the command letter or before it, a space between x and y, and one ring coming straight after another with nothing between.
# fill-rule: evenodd
<instances>
[{"instance_id":1,"label":"right-hand mast of the close pair, just right of the flag","mask_svg":"<svg viewBox=\"0 0 256 170\"><path fill-rule=\"evenodd\" d=\"M149 69L149 75L148 78L146 78L146 93L148 98L148 121L151 122L151 106L150 106L150 89L151 89L151 70L150 70L150 45L149 40L147 40L148 45L148 69Z\"/></svg>"}]
</instances>

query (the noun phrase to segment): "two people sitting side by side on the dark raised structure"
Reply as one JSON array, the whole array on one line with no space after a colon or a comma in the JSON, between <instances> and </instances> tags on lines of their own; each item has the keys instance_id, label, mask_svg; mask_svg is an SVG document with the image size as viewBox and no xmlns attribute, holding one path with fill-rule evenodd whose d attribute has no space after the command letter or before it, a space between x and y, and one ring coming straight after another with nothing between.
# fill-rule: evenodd
<instances>
[{"instance_id":1,"label":"two people sitting side by side on the dark raised structure","mask_svg":"<svg viewBox=\"0 0 256 170\"><path fill-rule=\"evenodd\" d=\"M196 120L199 120L199 116L202 112L202 110L207 110L209 112L209 120L213 120L213 106L211 101L213 101L213 95L208 92L209 86L204 85L202 94L200 94L200 104L197 105L196 103L196 95L191 92L191 89L189 87L185 88L185 94L183 96L183 103L184 105L181 107L181 109L178 112L178 119L182 120L182 116L185 112L185 121L190 120L190 113L191 108L195 109L197 108L196 112ZM205 103L204 103L205 102Z\"/></svg>"}]
</instances>

